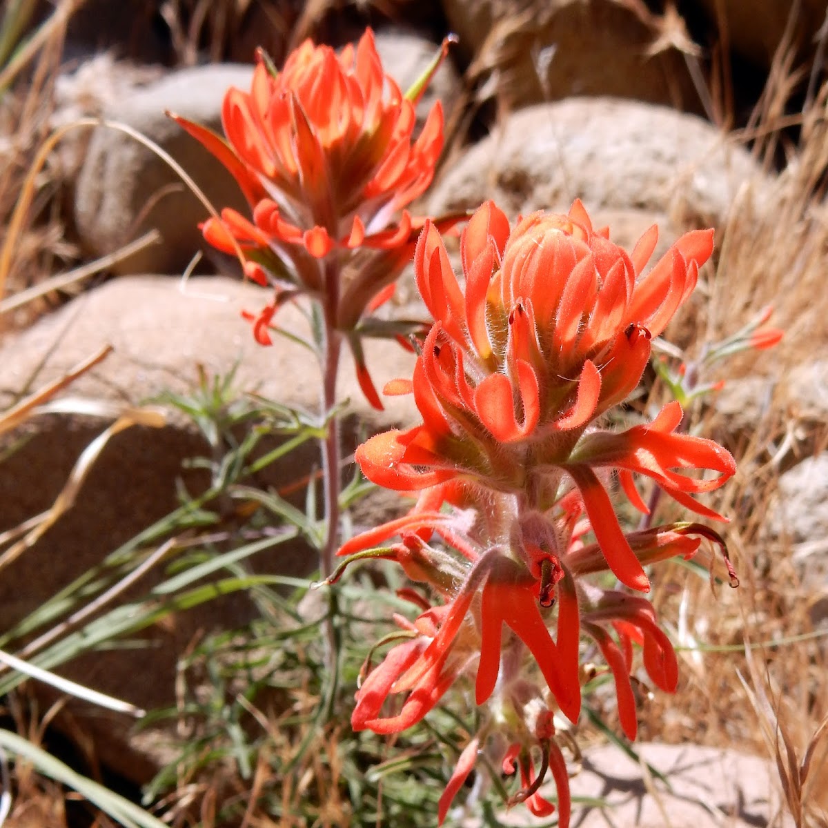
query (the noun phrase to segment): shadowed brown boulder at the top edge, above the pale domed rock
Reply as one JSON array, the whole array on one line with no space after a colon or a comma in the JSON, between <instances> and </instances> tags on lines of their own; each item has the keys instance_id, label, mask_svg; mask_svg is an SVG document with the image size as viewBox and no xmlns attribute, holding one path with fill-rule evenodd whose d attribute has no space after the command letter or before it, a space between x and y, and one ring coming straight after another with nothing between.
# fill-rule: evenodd
<instances>
[{"instance_id":1,"label":"shadowed brown boulder at the top edge, above the pale domed rock","mask_svg":"<svg viewBox=\"0 0 828 828\"><path fill-rule=\"evenodd\" d=\"M469 73L510 107L616 95L696 111L683 55L651 46L649 16L614 0L444 0ZM689 39L686 47L693 48Z\"/></svg>"}]
</instances>

